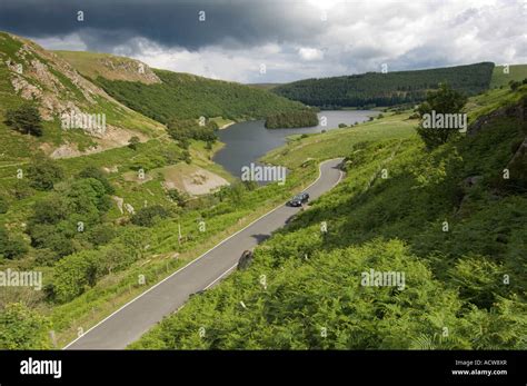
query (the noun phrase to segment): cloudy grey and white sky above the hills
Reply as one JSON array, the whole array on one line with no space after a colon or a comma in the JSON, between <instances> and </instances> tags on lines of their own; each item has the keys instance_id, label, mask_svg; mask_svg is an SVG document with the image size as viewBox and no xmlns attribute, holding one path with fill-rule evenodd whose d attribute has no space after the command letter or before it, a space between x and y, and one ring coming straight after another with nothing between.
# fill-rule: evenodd
<instances>
[{"instance_id":1,"label":"cloudy grey and white sky above the hills","mask_svg":"<svg viewBox=\"0 0 527 386\"><path fill-rule=\"evenodd\" d=\"M0 2L0 30L47 49L121 55L243 83L527 63L526 20L527 0Z\"/></svg>"}]
</instances>

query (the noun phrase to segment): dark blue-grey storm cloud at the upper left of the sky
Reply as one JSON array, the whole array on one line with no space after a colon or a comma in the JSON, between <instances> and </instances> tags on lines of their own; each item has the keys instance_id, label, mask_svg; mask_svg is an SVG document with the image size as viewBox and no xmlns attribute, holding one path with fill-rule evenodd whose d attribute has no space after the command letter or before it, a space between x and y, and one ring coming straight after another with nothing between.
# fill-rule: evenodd
<instances>
[{"instance_id":1,"label":"dark blue-grey storm cloud at the upper left of the sky","mask_svg":"<svg viewBox=\"0 0 527 386\"><path fill-rule=\"evenodd\" d=\"M301 2L168 0L2 0L0 30L48 38L78 33L88 49L105 49L133 37L163 47L197 50L213 44L247 47L306 41L322 28ZM84 21L77 20L77 11ZM206 22L198 20L206 12Z\"/></svg>"}]
</instances>

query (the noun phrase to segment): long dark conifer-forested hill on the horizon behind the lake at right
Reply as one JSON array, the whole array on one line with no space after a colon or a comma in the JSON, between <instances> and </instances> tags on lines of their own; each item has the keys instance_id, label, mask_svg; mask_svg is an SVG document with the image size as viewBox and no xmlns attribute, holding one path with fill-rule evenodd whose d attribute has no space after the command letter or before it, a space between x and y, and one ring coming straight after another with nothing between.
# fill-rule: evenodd
<instances>
[{"instance_id":1,"label":"long dark conifer-forested hill on the horizon behind the lake at right","mask_svg":"<svg viewBox=\"0 0 527 386\"><path fill-rule=\"evenodd\" d=\"M489 88L494 63L388 73L306 79L272 88L272 92L318 107L394 106L424 100L440 82L468 96Z\"/></svg>"}]
</instances>

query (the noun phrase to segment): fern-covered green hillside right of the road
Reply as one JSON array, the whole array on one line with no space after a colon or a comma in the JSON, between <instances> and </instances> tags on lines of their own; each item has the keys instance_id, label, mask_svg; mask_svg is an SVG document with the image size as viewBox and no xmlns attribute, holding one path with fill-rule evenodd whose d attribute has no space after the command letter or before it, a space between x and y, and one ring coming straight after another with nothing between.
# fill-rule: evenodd
<instances>
[{"instance_id":1,"label":"fern-covered green hillside right of the road","mask_svg":"<svg viewBox=\"0 0 527 386\"><path fill-rule=\"evenodd\" d=\"M506 110L434 151L402 113L291 139L268 159L346 155L345 180L131 347L526 349L527 87L503 91L467 109ZM365 286L371 269L405 285Z\"/></svg>"}]
</instances>

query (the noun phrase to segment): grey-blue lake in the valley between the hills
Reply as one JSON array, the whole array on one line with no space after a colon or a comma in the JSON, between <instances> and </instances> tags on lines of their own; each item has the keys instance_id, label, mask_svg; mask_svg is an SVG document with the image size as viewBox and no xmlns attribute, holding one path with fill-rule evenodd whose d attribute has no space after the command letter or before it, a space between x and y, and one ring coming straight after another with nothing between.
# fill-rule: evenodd
<instances>
[{"instance_id":1,"label":"grey-blue lake in the valley between the hills","mask_svg":"<svg viewBox=\"0 0 527 386\"><path fill-rule=\"evenodd\" d=\"M250 162L256 164L268 151L282 146L288 136L332 130L338 128L339 123L364 122L370 116L378 113L379 111L375 110L320 111L318 126L296 129L266 129L264 120L235 123L217 132L219 140L226 145L212 160L221 165L232 176L240 177L241 167L249 166ZM320 125L322 117L326 117L327 125L325 127Z\"/></svg>"}]
</instances>

